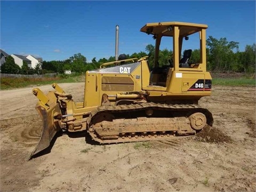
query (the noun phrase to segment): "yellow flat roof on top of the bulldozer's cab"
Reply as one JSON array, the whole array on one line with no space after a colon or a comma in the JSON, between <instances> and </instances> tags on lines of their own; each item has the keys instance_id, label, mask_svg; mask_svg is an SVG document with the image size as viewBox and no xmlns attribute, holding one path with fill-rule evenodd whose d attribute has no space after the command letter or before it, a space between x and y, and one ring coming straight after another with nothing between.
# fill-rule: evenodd
<instances>
[{"instance_id":1,"label":"yellow flat roof on top of the bulldozer's cab","mask_svg":"<svg viewBox=\"0 0 256 192\"><path fill-rule=\"evenodd\" d=\"M180 27L180 36L187 36L198 31L201 29L207 29L207 25L204 24L197 24L197 23L187 23L187 22L156 22L156 23L147 23L143 26L140 31L147 33L148 35L159 35L162 36L173 36L173 30L168 30L168 27L179 26Z\"/></svg>"}]
</instances>

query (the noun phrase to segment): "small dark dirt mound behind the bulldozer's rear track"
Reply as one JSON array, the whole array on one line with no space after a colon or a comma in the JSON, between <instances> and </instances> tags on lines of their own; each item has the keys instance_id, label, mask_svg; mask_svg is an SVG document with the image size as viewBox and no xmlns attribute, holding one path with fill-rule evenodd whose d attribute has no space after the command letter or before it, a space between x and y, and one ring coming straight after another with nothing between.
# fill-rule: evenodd
<instances>
[{"instance_id":1,"label":"small dark dirt mound behind the bulldozer's rear track","mask_svg":"<svg viewBox=\"0 0 256 192\"><path fill-rule=\"evenodd\" d=\"M219 129L211 126L206 126L202 131L197 133L193 139L202 142L210 142L210 143L219 143L219 142L226 142L231 143L232 139L220 131Z\"/></svg>"}]
</instances>

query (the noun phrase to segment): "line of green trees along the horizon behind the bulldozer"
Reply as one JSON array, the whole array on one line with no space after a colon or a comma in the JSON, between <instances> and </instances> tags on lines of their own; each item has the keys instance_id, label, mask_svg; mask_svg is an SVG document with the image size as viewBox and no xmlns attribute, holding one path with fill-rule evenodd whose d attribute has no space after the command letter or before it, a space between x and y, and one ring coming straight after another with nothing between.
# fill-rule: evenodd
<instances>
[{"instance_id":1,"label":"line of green trees along the horizon behind the bulldozer","mask_svg":"<svg viewBox=\"0 0 256 192\"><path fill-rule=\"evenodd\" d=\"M256 45L246 45L245 51L238 51L238 42L228 42L227 38L216 39L209 36L206 40L206 60L207 70L219 73L238 72L255 73ZM142 58L148 56L150 69L153 68L155 46L147 45L146 52L125 54L127 59ZM172 55L172 50L159 51L159 66L168 64ZM193 50L190 62L198 62L200 59L200 50ZM84 73L87 70L97 69L105 62L115 61L115 57L101 58L98 61L93 58L87 62L86 57L81 53L74 54L69 59L63 61L43 61L42 66L37 65L34 69L28 67L24 61L20 68L15 64L14 59L9 56L6 62L1 66L1 73L7 74L63 74L65 70L71 70L75 73Z\"/></svg>"}]
</instances>

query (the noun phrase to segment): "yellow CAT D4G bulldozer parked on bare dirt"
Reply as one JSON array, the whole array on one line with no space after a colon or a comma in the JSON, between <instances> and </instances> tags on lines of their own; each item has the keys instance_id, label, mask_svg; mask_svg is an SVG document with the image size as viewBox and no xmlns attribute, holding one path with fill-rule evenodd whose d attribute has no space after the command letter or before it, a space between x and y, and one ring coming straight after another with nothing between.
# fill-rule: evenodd
<instances>
[{"instance_id":1,"label":"yellow CAT D4G bulldozer parked on bare dirt","mask_svg":"<svg viewBox=\"0 0 256 192\"><path fill-rule=\"evenodd\" d=\"M33 89L43 130L31 157L49 147L61 130L87 131L99 143L119 143L166 140L212 126L212 114L198 105L200 98L211 95L212 86L206 71L206 29L207 25L197 23L147 23L140 31L155 39L153 68L148 57L118 59L116 54L116 61L86 71L83 102L75 103L56 83L55 91L47 94ZM190 36L198 38L196 61L190 61L193 51L184 48ZM163 37L172 42L167 63L159 63ZM118 38L116 47L117 42Z\"/></svg>"}]
</instances>

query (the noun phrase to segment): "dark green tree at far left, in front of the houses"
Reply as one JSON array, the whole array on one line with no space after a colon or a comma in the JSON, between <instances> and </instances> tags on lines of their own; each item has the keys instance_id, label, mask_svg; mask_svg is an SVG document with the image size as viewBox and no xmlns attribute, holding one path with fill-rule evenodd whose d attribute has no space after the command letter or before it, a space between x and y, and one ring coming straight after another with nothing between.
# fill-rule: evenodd
<instances>
[{"instance_id":1,"label":"dark green tree at far left, in front of the houses","mask_svg":"<svg viewBox=\"0 0 256 192\"><path fill-rule=\"evenodd\" d=\"M9 55L5 63L1 65L1 73L2 74L19 74L20 67L14 62L14 59L11 55Z\"/></svg>"}]
</instances>

